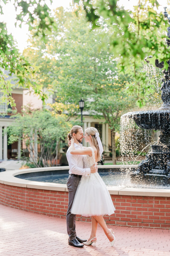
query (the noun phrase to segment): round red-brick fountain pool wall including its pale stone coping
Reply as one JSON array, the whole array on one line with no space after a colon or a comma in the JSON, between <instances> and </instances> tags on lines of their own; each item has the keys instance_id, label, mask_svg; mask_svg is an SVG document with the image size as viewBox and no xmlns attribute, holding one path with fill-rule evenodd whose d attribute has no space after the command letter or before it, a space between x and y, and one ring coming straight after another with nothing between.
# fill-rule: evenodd
<instances>
[{"instance_id":1,"label":"round red-brick fountain pool wall including its pale stone coping","mask_svg":"<svg viewBox=\"0 0 170 256\"><path fill-rule=\"evenodd\" d=\"M123 166L106 166L108 167L121 168ZM68 207L66 184L36 182L15 177L23 173L66 169L69 169L68 166L11 170L0 173L0 204L37 214L66 218ZM169 229L169 189L108 187L108 190L116 211L111 216L104 216L107 224ZM76 215L76 219L91 221L90 217L85 218L80 215Z\"/></svg>"}]
</instances>

